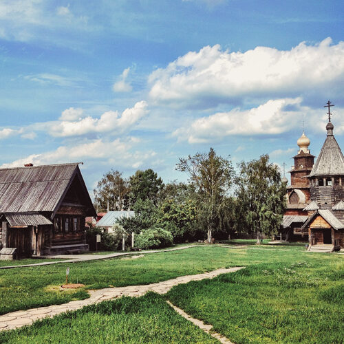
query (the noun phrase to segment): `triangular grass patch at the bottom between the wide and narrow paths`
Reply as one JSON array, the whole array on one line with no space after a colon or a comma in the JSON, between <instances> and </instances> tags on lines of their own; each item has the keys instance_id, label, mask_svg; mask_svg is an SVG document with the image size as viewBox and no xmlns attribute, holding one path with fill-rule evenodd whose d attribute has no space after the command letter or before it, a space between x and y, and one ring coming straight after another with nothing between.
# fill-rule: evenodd
<instances>
[{"instance_id":1,"label":"triangular grass patch at the bottom between the wide and narrow paths","mask_svg":"<svg viewBox=\"0 0 344 344\"><path fill-rule=\"evenodd\" d=\"M0 343L218 343L160 295L122 297L0 332Z\"/></svg>"}]
</instances>

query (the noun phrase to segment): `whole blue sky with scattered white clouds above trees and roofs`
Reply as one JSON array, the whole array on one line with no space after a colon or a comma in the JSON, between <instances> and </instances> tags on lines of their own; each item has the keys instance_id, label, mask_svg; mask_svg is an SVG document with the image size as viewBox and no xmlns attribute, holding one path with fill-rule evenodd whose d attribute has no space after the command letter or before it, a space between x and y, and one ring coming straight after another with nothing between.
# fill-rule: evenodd
<instances>
[{"instance_id":1,"label":"whole blue sky with scattered white clouds above trees and roofs","mask_svg":"<svg viewBox=\"0 0 344 344\"><path fill-rule=\"evenodd\" d=\"M327 100L344 149L343 1L1 0L2 166L84 162L186 180L178 157L233 162L297 138L319 154Z\"/></svg>"}]
</instances>

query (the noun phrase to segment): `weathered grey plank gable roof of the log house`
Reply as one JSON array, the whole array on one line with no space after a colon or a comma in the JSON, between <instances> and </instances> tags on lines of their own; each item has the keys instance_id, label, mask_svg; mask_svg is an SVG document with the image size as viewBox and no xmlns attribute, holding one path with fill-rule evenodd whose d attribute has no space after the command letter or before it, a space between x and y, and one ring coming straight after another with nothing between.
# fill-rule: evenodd
<instances>
[{"instance_id":1,"label":"weathered grey plank gable roof of the log house","mask_svg":"<svg viewBox=\"0 0 344 344\"><path fill-rule=\"evenodd\" d=\"M94 207L78 163L0 169L0 213L53 213L76 175L93 216Z\"/></svg>"}]
</instances>

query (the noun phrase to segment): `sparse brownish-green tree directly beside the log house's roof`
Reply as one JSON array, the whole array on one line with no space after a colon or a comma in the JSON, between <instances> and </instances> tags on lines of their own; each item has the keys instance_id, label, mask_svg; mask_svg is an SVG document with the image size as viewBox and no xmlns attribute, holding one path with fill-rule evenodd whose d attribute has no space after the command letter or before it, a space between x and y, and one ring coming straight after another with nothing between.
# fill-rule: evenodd
<instances>
[{"instance_id":1,"label":"sparse brownish-green tree directly beside the log house's roof","mask_svg":"<svg viewBox=\"0 0 344 344\"><path fill-rule=\"evenodd\" d=\"M129 183L122 178L122 173L111 169L103 175L94 189L94 205L98 211L127 210Z\"/></svg>"}]
</instances>

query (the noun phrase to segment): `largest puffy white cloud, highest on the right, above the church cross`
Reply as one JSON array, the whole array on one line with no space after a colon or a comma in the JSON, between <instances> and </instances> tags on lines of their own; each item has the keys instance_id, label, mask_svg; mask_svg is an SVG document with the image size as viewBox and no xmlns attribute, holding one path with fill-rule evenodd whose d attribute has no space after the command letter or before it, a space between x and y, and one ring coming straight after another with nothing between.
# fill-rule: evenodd
<instances>
[{"instance_id":1,"label":"largest puffy white cloud, highest on the right, above the church cross","mask_svg":"<svg viewBox=\"0 0 344 344\"><path fill-rule=\"evenodd\" d=\"M344 42L330 38L291 50L256 47L247 52L222 51L220 45L189 52L149 76L155 103L194 107L243 98L285 98L307 93L341 92Z\"/></svg>"}]
</instances>

